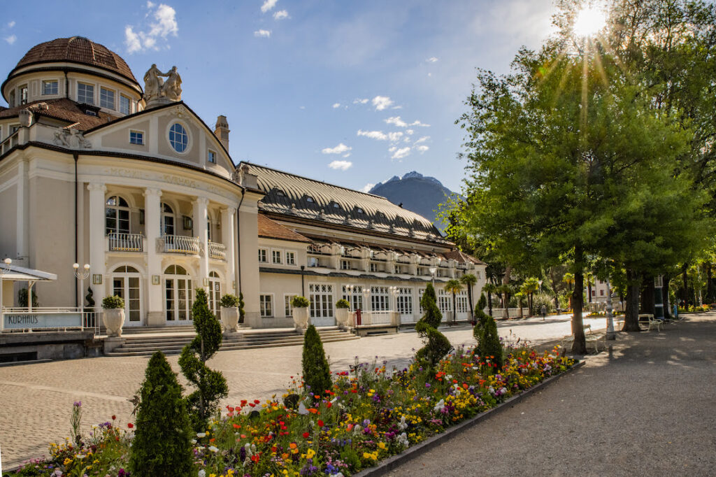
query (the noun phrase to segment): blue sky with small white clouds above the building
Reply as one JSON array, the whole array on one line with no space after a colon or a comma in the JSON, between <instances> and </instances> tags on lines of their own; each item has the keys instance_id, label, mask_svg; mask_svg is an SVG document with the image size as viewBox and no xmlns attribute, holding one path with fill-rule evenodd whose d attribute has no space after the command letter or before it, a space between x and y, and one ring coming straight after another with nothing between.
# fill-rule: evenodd
<instances>
[{"instance_id":1,"label":"blue sky with small white clouds above the building","mask_svg":"<svg viewBox=\"0 0 716 477\"><path fill-rule=\"evenodd\" d=\"M235 162L359 190L417 170L458 191L454 122L475 67L508 72L521 45L552 32L553 11L551 0L20 2L0 23L0 70L40 42L88 37L140 83L152 63L176 65L183 100L212 127L228 117Z\"/></svg>"}]
</instances>

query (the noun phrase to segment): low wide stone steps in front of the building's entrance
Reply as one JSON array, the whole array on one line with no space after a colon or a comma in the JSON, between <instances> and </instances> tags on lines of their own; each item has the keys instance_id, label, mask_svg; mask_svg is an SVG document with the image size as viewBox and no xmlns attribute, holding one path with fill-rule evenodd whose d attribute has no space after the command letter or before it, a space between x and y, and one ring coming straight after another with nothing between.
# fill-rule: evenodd
<instances>
[{"instance_id":1,"label":"low wide stone steps in front of the building's entrance","mask_svg":"<svg viewBox=\"0 0 716 477\"><path fill-rule=\"evenodd\" d=\"M356 335L338 327L321 327L318 332L324 343L359 339ZM151 336L148 336L150 334ZM194 328L193 326L173 327L170 332L164 328L162 333L151 329L128 330L128 332L122 333L122 337L127 339L124 344L114 351L108 352L107 356L149 356L157 350L162 350L165 355L177 355L194 338ZM272 331L239 328L238 333L224 334L219 351L300 346L303 343L304 335L293 329Z\"/></svg>"}]
</instances>

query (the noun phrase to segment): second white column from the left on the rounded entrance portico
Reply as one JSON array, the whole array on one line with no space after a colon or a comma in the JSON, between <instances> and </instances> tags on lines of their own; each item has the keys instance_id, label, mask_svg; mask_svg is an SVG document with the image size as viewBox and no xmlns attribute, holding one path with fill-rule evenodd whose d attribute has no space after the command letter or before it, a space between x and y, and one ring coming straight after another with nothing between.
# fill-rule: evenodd
<instances>
[{"instance_id":1,"label":"second white column from the left on the rounded entrance portico","mask_svg":"<svg viewBox=\"0 0 716 477\"><path fill-rule=\"evenodd\" d=\"M162 256L157 249L157 240L161 236L161 203L162 191L146 188L144 191L144 233L147 237L147 325L161 326L164 320ZM159 277L159 284L154 277Z\"/></svg>"}]
</instances>

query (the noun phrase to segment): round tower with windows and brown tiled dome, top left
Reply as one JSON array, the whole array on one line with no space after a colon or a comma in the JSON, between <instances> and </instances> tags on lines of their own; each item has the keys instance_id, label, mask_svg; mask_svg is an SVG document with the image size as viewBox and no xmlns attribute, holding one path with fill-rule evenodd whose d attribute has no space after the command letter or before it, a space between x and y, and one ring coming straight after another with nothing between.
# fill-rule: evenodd
<instances>
[{"instance_id":1,"label":"round tower with windows and brown tiled dome, top left","mask_svg":"<svg viewBox=\"0 0 716 477\"><path fill-rule=\"evenodd\" d=\"M38 44L1 86L9 108L54 100L86 105L88 115L120 117L140 110L142 87L115 52L84 37Z\"/></svg>"}]
</instances>

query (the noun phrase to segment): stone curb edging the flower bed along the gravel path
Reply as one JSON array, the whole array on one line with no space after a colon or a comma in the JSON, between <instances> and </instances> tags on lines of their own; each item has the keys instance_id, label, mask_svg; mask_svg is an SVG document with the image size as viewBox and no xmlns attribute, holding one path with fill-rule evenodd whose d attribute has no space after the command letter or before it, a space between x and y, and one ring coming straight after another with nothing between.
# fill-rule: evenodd
<instances>
[{"instance_id":1,"label":"stone curb edging the flower bed along the gravel path","mask_svg":"<svg viewBox=\"0 0 716 477\"><path fill-rule=\"evenodd\" d=\"M467 429L473 427L473 425L480 423L483 420L492 418L493 416L498 415L498 413L502 412L505 409L513 407L514 405L519 403L521 400L523 400L526 396L533 394L533 392L541 390L543 387L546 387L551 382L556 381L559 378L561 378L565 375L568 375L570 372L578 369L579 367L584 366L584 363L586 363L586 361L584 361L584 360L581 360L580 362L576 362L574 364L574 366L569 368L569 370L566 370L565 372L561 372L560 374L558 374L556 376L548 377L546 380L540 382L537 385L534 385L533 387L530 387L528 390L524 390L520 394L510 397L504 403L498 405L498 407L492 408L490 410L486 410L484 413L480 413L480 414L476 415L474 418L470 418L468 420L463 421L462 423L460 423L458 425L454 425L454 426L448 428L443 433L440 433L438 435L433 435L431 438L428 438L427 440L424 440L419 444L412 445L409 448L403 450L402 453L392 456L390 458L387 458L384 461L381 461L377 466L364 469L364 470L360 471L359 473L354 474L354 477L384 476L388 472L401 466L402 464L406 463L407 461L411 461L414 458L422 456L422 454L426 453L428 450L435 448L435 447L437 447L437 445L440 445L440 444L444 443L445 441L456 437L459 433L463 432L463 430L467 430Z\"/></svg>"}]
</instances>

